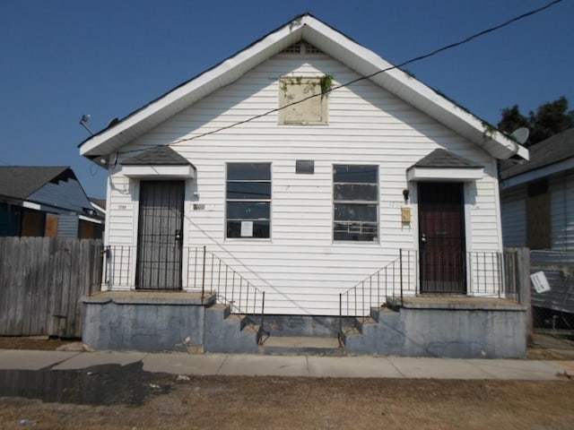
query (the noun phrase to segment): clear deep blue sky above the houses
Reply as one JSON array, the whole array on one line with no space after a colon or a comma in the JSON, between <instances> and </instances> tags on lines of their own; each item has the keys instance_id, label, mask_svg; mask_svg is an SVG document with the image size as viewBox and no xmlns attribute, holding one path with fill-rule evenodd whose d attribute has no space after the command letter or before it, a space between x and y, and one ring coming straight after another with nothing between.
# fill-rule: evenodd
<instances>
[{"instance_id":1,"label":"clear deep blue sky above the houses","mask_svg":"<svg viewBox=\"0 0 574 430\"><path fill-rule=\"evenodd\" d=\"M88 137L309 12L400 64L550 0L2 0L0 165L71 166L90 196L106 171ZM406 69L498 123L566 96L574 108L574 0Z\"/></svg>"}]
</instances>

